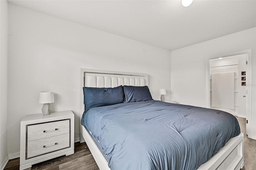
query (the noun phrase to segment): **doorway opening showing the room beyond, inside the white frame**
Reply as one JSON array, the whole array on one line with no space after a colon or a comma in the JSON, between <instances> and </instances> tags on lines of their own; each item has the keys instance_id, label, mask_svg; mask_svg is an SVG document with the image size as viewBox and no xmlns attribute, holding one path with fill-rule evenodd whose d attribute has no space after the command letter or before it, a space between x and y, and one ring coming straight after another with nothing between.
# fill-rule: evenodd
<instances>
[{"instance_id":1,"label":"doorway opening showing the room beyond, inside the white frame","mask_svg":"<svg viewBox=\"0 0 256 170\"><path fill-rule=\"evenodd\" d=\"M246 118L246 55L211 59L210 108Z\"/></svg>"}]
</instances>

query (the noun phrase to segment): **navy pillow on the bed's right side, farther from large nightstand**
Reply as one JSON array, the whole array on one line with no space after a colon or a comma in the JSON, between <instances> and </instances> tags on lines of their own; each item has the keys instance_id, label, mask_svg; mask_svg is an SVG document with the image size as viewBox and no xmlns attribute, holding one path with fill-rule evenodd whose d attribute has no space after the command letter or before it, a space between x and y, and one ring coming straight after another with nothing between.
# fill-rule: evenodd
<instances>
[{"instance_id":1,"label":"navy pillow on the bed's right side, farther from large nightstand","mask_svg":"<svg viewBox=\"0 0 256 170\"><path fill-rule=\"evenodd\" d=\"M123 86L124 102L153 100L148 86Z\"/></svg>"}]
</instances>

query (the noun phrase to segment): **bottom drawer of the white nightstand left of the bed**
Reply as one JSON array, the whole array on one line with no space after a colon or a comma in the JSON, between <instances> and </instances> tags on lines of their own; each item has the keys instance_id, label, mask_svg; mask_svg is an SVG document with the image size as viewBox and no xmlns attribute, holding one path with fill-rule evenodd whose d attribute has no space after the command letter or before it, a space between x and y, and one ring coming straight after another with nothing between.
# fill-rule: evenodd
<instances>
[{"instance_id":1,"label":"bottom drawer of the white nightstand left of the bed","mask_svg":"<svg viewBox=\"0 0 256 170\"><path fill-rule=\"evenodd\" d=\"M27 144L26 159L70 147L70 134L33 140Z\"/></svg>"}]
</instances>

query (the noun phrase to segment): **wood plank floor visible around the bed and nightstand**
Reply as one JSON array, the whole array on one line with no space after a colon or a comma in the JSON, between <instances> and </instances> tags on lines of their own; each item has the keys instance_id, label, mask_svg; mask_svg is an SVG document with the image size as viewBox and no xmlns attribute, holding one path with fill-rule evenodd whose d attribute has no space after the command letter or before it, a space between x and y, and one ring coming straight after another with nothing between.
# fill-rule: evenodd
<instances>
[{"instance_id":1,"label":"wood plank floor visible around the bed and nightstand","mask_svg":"<svg viewBox=\"0 0 256 170\"><path fill-rule=\"evenodd\" d=\"M244 132L244 168L242 170L256 170L256 140L246 136L246 119L236 117L241 132ZM18 170L20 158L9 160L4 170ZM61 156L52 160L32 165L27 170L98 170L86 143L75 143L75 153Z\"/></svg>"}]
</instances>

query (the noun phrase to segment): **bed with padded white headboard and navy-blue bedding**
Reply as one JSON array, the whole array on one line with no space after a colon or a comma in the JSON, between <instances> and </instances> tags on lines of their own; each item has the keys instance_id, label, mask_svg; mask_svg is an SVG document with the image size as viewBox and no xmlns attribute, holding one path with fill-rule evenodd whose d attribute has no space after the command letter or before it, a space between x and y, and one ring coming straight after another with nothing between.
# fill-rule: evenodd
<instances>
[{"instance_id":1,"label":"bed with padded white headboard and navy-blue bedding","mask_svg":"<svg viewBox=\"0 0 256 170\"><path fill-rule=\"evenodd\" d=\"M118 97L114 97L117 103L111 103L112 99L102 101L110 102L102 107L95 107L95 103L86 104L92 105L91 108L84 107L84 93L81 95L80 142L86 141L100 170L243 167L243 134L232 115L154 101L148 99L148 95L143 97L145 100L140 99L141 94L130 97L131 88L141 91L146 90L147 85L146 74L81 69L81 88L89 89L91 95L101 87L115 93L125 91L126 103L118 103ZM98 96L91 97L97 99Z\"/></svg>"}]
</instances>

